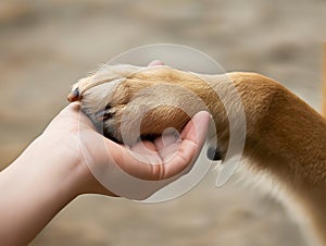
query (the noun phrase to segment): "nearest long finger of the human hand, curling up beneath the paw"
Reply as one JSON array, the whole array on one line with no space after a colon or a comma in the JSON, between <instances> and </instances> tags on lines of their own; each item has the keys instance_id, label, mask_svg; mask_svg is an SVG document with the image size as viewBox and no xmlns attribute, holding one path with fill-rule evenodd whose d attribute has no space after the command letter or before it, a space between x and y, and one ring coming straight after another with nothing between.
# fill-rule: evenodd
<instances>
[{"instance_id":1,"label":"nearest long finger of the human hand, curling up beneath the paw","mask_svg":"<svg viewBox=\"0 0 326 246\"><path fill-rule=\"evenodd\" d=\"M176 156L164 163L162 159L156 162L145 161L143 158L113 142L108 140L108 148L115 163L129 175L141 180L164 180L181 172L192 159L197 158L209 128L210 114L199 112L183 131L181 142ZM154 158L153 158L154 159ZM151 160L150 160L151 161Z\"/></svg>"}]
</instances>

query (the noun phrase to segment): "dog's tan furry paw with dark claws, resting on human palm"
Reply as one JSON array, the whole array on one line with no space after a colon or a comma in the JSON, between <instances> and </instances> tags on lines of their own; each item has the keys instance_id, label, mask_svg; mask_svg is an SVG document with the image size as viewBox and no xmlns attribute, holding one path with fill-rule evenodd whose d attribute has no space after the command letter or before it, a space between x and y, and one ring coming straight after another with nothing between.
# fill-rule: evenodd
<instances>
[{"instance_id":1,"label":"dog's tan furry paw with dark claws, resting on human palm","mask_svg":"<svg viewBox=\"0 0 326 246\"><path fill-rule=\"evenodd\" d=\"M104 136L131 145L168 127L180 132L199 111L196 97L183 86L190 77L199 79L167 66L104 66L76 83L68 100L79 100Z\"/></svg>"}]
</instances>

